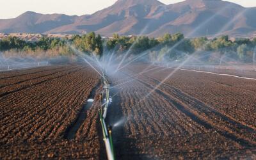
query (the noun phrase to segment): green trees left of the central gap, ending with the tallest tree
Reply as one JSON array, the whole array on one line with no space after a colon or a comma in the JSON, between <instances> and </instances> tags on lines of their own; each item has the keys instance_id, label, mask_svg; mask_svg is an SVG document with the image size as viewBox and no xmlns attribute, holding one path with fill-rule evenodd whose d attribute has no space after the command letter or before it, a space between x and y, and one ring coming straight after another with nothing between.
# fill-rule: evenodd
<instances>
[{"instance_id":1,"label":"green trees left of the central gap, ending with the tallest tree","mask_svg":"<svg viewBox=\"0 0 256 160\"><path fill-rule=\"evenodd\" d=\"M8 36L0 40L0 51L16 50L21 52L57 51L60 55L76 54L74 49L86 54L100 56L103 52L103 43L100 35L89 33L87 35L75 35L72 39L42 37L36 42L26 42L15 36Z\"/></svg>"}]
</instances>

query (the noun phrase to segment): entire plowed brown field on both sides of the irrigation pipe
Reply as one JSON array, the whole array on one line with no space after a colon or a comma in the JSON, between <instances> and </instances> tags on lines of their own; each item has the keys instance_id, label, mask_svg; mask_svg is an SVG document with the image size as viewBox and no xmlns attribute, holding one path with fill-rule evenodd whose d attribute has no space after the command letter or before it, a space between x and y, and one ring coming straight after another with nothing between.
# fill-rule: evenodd
<instances>
[{"instance_id":1,"label":"entire plowed brown field on both sides of the irrigation pipe","mask_svg":"<svg viewBox=\"0 0 256 160\"><path fill-rule=\"evenodd\" d=\"M255 80L134 63L109 81L116 159L256 159ZM102 90L86 65L1 72L0 159L106 159Z\"/></svg>"}]
</instances>

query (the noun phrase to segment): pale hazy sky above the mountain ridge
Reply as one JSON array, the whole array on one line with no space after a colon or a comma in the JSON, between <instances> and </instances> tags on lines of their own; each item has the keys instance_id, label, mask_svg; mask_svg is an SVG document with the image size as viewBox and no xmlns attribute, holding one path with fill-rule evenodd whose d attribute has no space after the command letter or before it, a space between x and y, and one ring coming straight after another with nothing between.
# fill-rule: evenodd
<instances>
[{"instance_id":1,"label":"pale hazy sky above the mountain ridge","mask_svg":"<svg viewBox=\"0 0 256 160\"><path fill-rule=\"evenodd\" d=\"M91 14L115 3L116 0L0 0L0 19L10 19L26 11L38 13ZM160 0L171 4L182 0ZM256 0L225 0L242 6L256 6Z\"/></svg>"}]
</instances>

